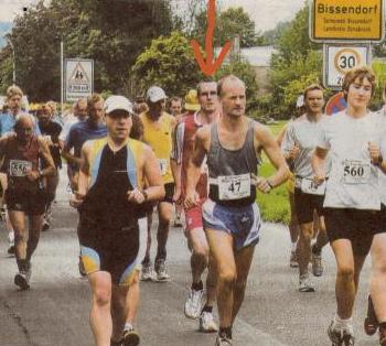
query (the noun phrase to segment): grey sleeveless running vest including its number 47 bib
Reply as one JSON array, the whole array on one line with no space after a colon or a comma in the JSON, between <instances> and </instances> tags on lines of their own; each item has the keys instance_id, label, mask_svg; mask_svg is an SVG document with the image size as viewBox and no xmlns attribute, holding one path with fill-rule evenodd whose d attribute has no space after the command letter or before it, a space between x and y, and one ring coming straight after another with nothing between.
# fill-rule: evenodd
<instances>
[{"instance_id":1,"label":"grey sleeveless running vest including its number 47 bib","mask_svg":"<svg viewBox=\"0 0 386 346\"><path fill-rule=\"evenodd\" d=\"M223 148L217 123L211 125L211 149L207 154L210 198L221 205L247 206L255 203L256 186L251 183L250 174L257 175L259 159L254 147L254 125L255 121L249 120L245 142L238 150Z\"/></svg>"}]
</instances>

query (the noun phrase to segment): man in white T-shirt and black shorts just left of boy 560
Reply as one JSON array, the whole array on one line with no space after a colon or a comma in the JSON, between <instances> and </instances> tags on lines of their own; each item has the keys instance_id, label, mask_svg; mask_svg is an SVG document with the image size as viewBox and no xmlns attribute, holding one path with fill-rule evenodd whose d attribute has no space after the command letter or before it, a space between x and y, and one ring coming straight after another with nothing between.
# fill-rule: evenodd
<instances>
[{"instance_id":1,"label":"man in white T-shirt and black shorts just left of boy 560","mask_svg":"<svg viewBox=\"0 0 386 346\"><path fill-rule=\"evenodd\" d=\"M320 121L323 119L323 89L312 84L304 90L305 113L288 125L281 148L285 159L293 167L294 210L300 226L297 259L299 263L299 291L314 292L309 275L309 262L312 252L312 273L321 277L322 248L328 244L323 219L323 199L325 184L315 188L311 166L312 154L318 140ZM313 236L313 213L318 212L321 228L315 244L311 248Z\"/></svg>"}]
</instances>

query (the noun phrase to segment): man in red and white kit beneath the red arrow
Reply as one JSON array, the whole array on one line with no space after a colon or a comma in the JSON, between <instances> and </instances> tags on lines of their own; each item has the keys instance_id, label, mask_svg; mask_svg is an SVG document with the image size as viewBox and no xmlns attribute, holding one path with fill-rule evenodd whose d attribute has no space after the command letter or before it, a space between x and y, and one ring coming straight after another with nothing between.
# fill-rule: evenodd
<instances>
[{"instance_id":1,"label":"man in red and white kit beneath the red arrow","mask_svg":"<svg viewBox=\"0 0 386 346\"><path fill-rule=\"evenodd\" d=\"M192 91L192 90L191 90ZM192 93L189 93L192 95ZM186 192L186 170L193 152L193 142L196 131L204 125L217 121L218 98L217 84L215 82L201 82L197 86L199 107L191 102L185 102L185 109L190 110L195 107L195 112L184 115L182 122L175 130L174 150L172 153L173 175L175 180L174 201L183 201ZM201 107L200 107L201 106ZM186 108L187 107L187 108ZM185 235L192 251L192 285L184 306L185 316L189 318L200 317L200 331L216 332L218 327L213 320L213 305L216 299L216 272L211 257L210 247L205 237L202 223L202 204L207 198L207 167L204 164L196 185L200 203L190 209L185 209ZM204 284L202 275L208 268L206 277L206 303L202 306L204 295Z\"/></svg>"}]
</instances>

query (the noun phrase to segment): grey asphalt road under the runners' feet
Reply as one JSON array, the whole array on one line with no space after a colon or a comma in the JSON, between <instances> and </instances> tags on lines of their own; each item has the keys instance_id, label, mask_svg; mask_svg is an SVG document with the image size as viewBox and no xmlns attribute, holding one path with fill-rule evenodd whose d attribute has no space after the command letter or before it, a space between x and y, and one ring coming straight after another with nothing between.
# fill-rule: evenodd
<instances>
[{"instance_id":1,"label":"grey asphalt road under the runners' feet","mask_svg":"<svg viewBox=\"0 0 386 346\"><path fill-rule=\"evenodd\" d=\"M64 182L62 180L62 182ZM7 255L7 234L0 230L0 346L92 346L88 326L90 292L77 271L77 214L61 184L53 229L42 234L33 258L31 290L13 284L14 258ZM156 237L154 237L156 238ZM171 282L141 283L137 326L144 346L213 346L214 334L197 332L183 304L190 285L190 260L181 229L173 228L168 245ZM331 345L326 327L335 311L335 261L323 251L325 271L315 278L315 293L298 292L298 272L290 269L289 235L281 225L265 224L256 247L244 305L234 325L237 346ZM377 345L363 332L369 259L361 278L354 313L356 345Z\"/></svg>"}]
</instances>

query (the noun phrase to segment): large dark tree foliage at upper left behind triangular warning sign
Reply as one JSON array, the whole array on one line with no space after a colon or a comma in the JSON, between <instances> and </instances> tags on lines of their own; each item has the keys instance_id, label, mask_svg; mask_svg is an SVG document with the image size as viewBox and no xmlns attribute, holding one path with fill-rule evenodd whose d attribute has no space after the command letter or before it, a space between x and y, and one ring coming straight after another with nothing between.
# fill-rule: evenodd
<instances>
[{"instance_id":1,"label":"large dark tree foliage at upper left behind triangular warning sign","mask_svg":"<svg viewBox=\"0 0 386 346\"><path fill-rule=\"evenodd\" d=\"M17 18L10 40L15 48L17 83L34 100L60 98L60 42L65 57L95 60L95 89L126 91L131 65L143 46L171 31L167 0L40 1ZM0 54L7 65L12 51ZM8 65L7 65L8 66ZM7 69L0 87L12 83Z\"/></svg>"}]
</instances>

